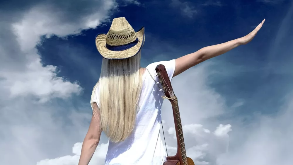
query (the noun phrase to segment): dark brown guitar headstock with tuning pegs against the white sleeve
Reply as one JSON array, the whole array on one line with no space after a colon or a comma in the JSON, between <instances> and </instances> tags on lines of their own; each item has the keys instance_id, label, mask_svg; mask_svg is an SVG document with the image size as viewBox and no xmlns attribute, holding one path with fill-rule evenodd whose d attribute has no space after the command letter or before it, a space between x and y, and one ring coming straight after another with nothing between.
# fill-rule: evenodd
<instances>
[{"instance_id":1,"label":"dark brown guitar headstock with tuning pegs against the white sleeve","mask_svg":"<svg viewBox=\"0 0 293 165\"><path fill-rule=\"evenodd\" d=\"M162 64L159 64L156 67L156 72L159 77L159 83L162 85L165 96L168 98L175 96L172 85L171 85L171 81L169 79L165 66Z\"/></svg>"}]
</instances>

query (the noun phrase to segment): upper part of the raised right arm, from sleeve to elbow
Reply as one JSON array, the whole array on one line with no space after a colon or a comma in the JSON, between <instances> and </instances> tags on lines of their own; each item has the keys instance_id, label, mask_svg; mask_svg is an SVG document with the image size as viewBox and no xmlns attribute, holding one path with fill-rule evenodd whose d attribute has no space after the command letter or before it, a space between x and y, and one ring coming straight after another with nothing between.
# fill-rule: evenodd
<instances>
[{"instance_id":1,"label":"upper part of the raised right arm, from sleeve to elbow","mask_svg":"<svg viewBox=\"0 0 293 165\"><path fill-rule=\"evenodd\" d=\"M175 59L175 71L173 77L204 61L202 57L202 51L198 50L197 52Z\"/></svg>"}]
</instances>

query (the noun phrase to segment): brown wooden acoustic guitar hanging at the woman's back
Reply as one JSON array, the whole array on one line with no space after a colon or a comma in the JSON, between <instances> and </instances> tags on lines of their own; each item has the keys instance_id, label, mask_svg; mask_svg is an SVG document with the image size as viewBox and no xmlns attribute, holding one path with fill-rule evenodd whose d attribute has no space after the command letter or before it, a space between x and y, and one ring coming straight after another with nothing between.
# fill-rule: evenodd
<instances>
[{"instance_id":1,"label":"brown wooden acoustic guitar hanging at the woman's back","mask_svg":"<svg viewBox=\"0 0 293 165\"><path fill-rule=\"evenodd\" d=\"M161 84L166 98L171 102L175 123L175 132L177 139L177 152L174 156L168 156L167 161L163 165L194 165L194 162L191 158L186 157L185 144L183 138L183 130L181 125L179 107L177 97L174 94L169 76L167 74L166 68L164 65L159 64L156 67L157 76L159 77L159 83Z\"/></svg>"}]
</instances>

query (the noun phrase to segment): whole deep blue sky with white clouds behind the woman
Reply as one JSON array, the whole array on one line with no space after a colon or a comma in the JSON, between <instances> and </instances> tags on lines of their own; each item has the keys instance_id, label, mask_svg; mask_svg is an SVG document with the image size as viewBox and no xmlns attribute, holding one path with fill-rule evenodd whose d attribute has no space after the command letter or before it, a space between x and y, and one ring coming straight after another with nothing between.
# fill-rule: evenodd
<instances>
[{"instance_id":1,"label":"whole deep blue sky with white clouds behind the woman","mask_svg":"<svg viewBox=\"0 0 293 165\"><path fill-rule=\"evenodd\" d=\"M122 16L135 30L145 26L142 67L242 37L265 18L250 43L172 84L187 154L196 164L292 164L293 1L13 0L0 6L0 164L77 164L102 60L94 38ZM162 118L173 153L170 108L165 101ZM92 164L103 162L107 141L102 135Z\"/></svg>"}]
</instances>

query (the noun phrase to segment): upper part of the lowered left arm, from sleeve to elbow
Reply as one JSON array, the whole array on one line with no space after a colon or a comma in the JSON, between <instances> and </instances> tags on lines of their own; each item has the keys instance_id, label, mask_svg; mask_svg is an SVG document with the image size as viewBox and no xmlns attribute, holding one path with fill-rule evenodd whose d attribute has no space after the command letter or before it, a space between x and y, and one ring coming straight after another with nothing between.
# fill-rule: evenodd
<instances>
[{"instance_id":1,"label":"upper part of the lowered left arm, from sleeve to elbow","mask_svg":"<svg viewBox=\"0 0 293 165\"><path fill-rule=\"evenodd\" d=\"M88 140L100 141L102 130L100 129L100 113L96 102L93 103L93 115L86 134Z\"/></svg>"}]
</instances>

